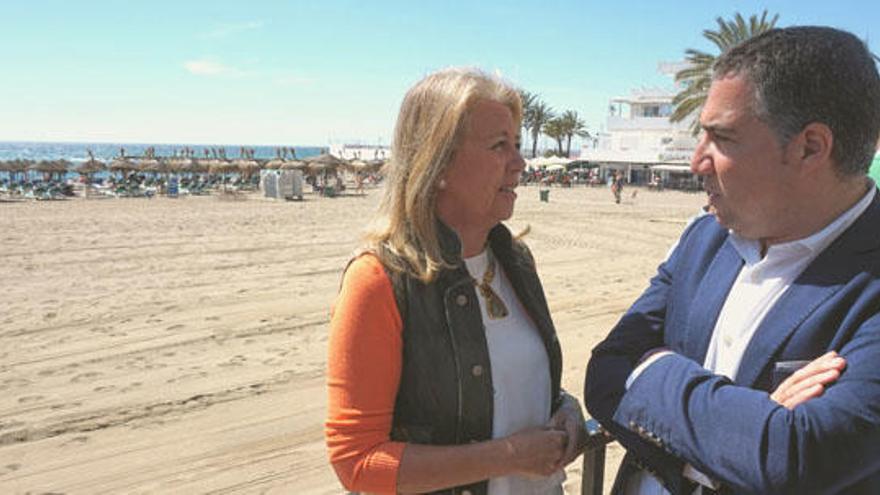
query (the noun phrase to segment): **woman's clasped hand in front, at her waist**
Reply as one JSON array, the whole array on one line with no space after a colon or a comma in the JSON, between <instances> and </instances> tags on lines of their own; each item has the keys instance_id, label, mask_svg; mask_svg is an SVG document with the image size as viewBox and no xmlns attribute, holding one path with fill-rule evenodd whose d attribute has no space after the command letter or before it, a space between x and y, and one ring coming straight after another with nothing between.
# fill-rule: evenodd
<instances>
[{"instance_id":1,"label":"woman's clasped hand in front, at her waist","mask_svg":"<svg viewBox=\"0 0 880 495\"><path fill-rule=\"evenodd\" d=\"M559 469L567 434L556 428L534 427L510 435L504 443L517 474L543 478Z\"/></svg>"}]
</instances>

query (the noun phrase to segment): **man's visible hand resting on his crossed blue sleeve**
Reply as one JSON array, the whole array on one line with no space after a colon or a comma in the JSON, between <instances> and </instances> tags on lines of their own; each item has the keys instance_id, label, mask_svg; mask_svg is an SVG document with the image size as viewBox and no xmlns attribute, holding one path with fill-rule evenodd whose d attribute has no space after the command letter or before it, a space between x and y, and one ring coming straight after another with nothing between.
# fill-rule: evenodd
<instances>
[{"instance_id":1,"label":"man's visible hand resting on his crossed blue sleeve","mask_svg":"<svg viewBox=\"0 0 880 495\"><path fill-rule=\"evenodd\" d=\"M828 352L792 373L776 387L770 398L787 409L794 409L822 395L825 386L840 378L845 367L846 360L834 351Z\"/></svg>"}]
</instances>

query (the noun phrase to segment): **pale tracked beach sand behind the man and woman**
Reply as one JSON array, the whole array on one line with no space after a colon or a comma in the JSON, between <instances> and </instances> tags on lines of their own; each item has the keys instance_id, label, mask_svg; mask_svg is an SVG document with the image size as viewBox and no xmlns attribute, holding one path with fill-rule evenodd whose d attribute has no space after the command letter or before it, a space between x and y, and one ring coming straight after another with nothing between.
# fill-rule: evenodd
<instances>
[{"instance_id":1,"label":"pale tracked beach sand behind the man and woman","mask_svg":"<svg viewBox=\"0 0 880 495\"><path fill-rule=\"evenodd\" d=\"M632 191L521 188L509 222L531 226L577 396L590 349L704 201ZM377 199L0 204L0 493L341 493L327 323Z\"/></svg>"}]
</instances>

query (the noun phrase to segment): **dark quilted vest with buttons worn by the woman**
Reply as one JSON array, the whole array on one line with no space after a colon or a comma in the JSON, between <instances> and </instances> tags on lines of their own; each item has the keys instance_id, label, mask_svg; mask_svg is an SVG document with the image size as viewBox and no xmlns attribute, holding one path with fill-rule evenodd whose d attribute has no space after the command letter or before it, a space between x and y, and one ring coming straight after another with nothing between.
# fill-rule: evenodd
<instances>
[{"instance_id":1,"label":"dark quilted vest with buttons worn by the woman","mask_svg":"<svg viewBox=\"0 0 880 495\"><path fill-rule=\"evenodd\" d=\"M431 284L389 273L403 328L403 369L394 408L392 440L456 445L492 438L492 369L476 289L461 262L458 237L438 222L446 260ZM503 225L489 244L520 303L541 333L550 362L552 409L559 401L562 354L534 260ZM488 482L436 493L483 495Z\"/></svg>"}]
</instances>

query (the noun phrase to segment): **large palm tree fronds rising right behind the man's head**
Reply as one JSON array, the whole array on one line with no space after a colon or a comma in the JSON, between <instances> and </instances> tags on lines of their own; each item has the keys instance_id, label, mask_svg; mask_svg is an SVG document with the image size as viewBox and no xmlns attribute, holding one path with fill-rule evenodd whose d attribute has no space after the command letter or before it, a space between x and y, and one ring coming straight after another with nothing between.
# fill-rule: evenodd
<instances>
[{"instance_id":1,"label":"large palm tree fronds rising right behind the man's head","mask_svg":"<svg viewBox=\"0 0 880 495\"><path fill-rule=\"evenodd\" d=\"M778 19L779 14L776 14L768 21L767 11L764 10L760 18L757 15L752 15L746 22L743 16L737 12L733 20L716 18L718 30L706 29L703 31L703 36L714 43L720 53L724 53L753 36L773 29ZM684 89L672 99L675 111L669 117L670 121L681 122L702 108L703 103L706 102L709 85L712 84L712 66L715 64L716 58L718 55L700 50L692 48L685 50L685 60L688 62L688 66L675 74L675 81L682 83ZM699 123L696 119L691 124L691 130L695 135L699 131Z\"/></svg>"}]
</instances>

